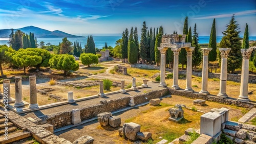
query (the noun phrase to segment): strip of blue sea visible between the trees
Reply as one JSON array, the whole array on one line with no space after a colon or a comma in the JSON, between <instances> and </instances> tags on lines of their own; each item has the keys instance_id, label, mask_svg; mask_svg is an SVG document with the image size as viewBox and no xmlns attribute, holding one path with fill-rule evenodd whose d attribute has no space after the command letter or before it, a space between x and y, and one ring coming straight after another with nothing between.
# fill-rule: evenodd
<instances>
[{"instance_id":1,"label":"strip of blue sea visible between the trees","mask_svg":"<svg viewBox=\"0 0 256 144\"><path fill-rule=\"evenodd\" d=\"M93 35L95 47L98 49L102 49L103 46L105 46L105 42L108 46L115 47L116 41L120 38L122 38L122 35L117 35L117 34L95 34ZM221 41L222 36L217 36L217 42ZM140 39L140 37L139 37ZM0 45L7 44L8 45L8 38L0 38ZM71 42L79 42L81 43L81 46L84 47L84 45L87 42L87 37L78 37L78 38L68 38L69 41ZM249 40L256 40L256 36L249 36ZM58 45L59 42L62 41L62 38L37 38L37 43L39 44L41 41L44 41L45 44L50 42L51 44ZM209 36L199 36L199 43L208 43L209 42Z\"/></svg>"}]
</instances>

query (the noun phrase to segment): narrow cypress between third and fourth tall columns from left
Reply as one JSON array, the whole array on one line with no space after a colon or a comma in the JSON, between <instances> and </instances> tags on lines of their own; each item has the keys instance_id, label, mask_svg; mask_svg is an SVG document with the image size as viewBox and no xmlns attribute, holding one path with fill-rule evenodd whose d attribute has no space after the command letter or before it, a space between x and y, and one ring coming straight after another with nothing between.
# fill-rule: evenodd
<instances>
[{"instance_id":1,"label":"narrow cypress between third and fourth tall columns from left","mask_svg":"<svg viewBox=\"0 0 256 144\"><path fill-rule=\"evenodd\" d=\"M199 64L202 61L202 52L200 52L200 46L198 45L198 33L197 33L197 23L195 24L194 27L194 33L193 33L193 39L192 39L192 43L191 46L195 46L195 50L192 53L192 65L194 66L194 70L197 70L197 66L199 66Z\"/></svg>"}]
</instances>

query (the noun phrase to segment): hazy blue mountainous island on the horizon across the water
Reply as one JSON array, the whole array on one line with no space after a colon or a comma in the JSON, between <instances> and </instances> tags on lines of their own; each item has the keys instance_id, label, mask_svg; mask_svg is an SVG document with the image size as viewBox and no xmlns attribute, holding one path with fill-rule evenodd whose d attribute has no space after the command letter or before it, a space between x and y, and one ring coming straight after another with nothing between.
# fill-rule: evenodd
<instances>
[{"instance_id":1,"label":"hazy blue mountainous island on the horizon across the water","mask_svg":"<svg viewBox=\"0 0 256 144\"><path fill-rule=\"evenodd\" d=\"M71 35L59 30L55 30L51 32L45 29L34 27L34 26L14 29L14 32L16 30L23 31L24 33L27 33L27 34L29 34L29 32L34 33L35 37L37 38L83 37L83 36ZM2 29L0 30L0 38L9 38L10 33L11 33L10 29Z\"/></svg>"}]
</instances>

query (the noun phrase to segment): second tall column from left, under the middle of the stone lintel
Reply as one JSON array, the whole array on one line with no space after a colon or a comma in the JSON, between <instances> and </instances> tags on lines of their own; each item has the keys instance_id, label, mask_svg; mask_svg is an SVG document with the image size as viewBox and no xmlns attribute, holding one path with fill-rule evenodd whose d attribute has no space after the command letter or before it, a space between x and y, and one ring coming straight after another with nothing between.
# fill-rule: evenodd
<instances>
[{"instance_id":1,"label":"second tall column from left, under the middle of the stone lintel","mask_svg":"<svg viewBox=\"0 0 256 144\"><path fill-rule=\"evenodd\" d=\"M171 50L174 52L174 68L173 68L174 83L172 88L180 89L178 80L179 80L179 52L181 48L171 48Z\"/></svg>"}]
</instances>

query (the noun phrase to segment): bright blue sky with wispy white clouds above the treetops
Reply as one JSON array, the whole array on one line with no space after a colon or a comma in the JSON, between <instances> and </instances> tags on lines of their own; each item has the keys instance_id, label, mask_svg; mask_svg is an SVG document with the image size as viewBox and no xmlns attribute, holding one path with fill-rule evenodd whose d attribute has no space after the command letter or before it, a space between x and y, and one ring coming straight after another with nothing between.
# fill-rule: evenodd
<instances>
[{"instance_id":1,"label":"bright blue sky with wispy white clouds above the treetops","mask_svg":"<svg viewBox=\"0 0 256 144\"><path fill-rule=\"evenodd\" d=\"M208 36L212 20L216 18L217 35L222 36L232 14L240 26L243 36L246 23L249 35L256 35L255 0L64 0L36 1L0 0L0 29L35 26L50 31L67 33L122 33L126 28L142 23L148 28L163 26L164 33L182 33L185 16L193 30L201 36Z\"/></svg>"}]
</instances>

